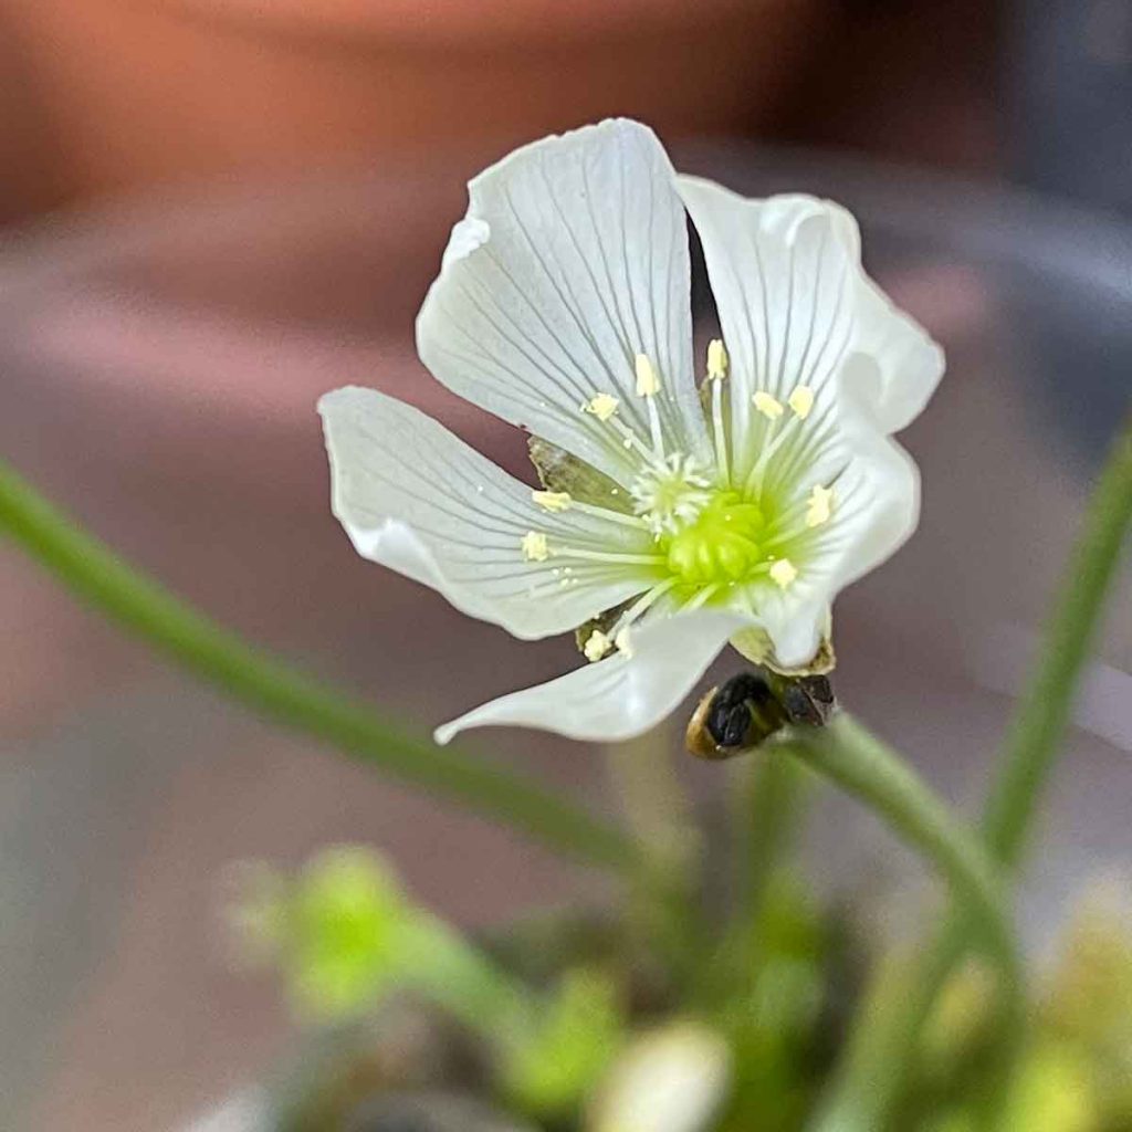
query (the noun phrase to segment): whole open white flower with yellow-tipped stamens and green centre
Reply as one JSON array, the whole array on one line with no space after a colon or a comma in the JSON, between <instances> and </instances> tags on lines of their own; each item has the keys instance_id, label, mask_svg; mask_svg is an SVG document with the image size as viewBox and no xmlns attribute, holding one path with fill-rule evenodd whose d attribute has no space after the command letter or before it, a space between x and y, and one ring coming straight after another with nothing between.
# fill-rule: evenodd
<instances>
[{"instance_id":1,"label":"whole open white flower with yellow-tipped stamens and green centre","mask_svg":"<svg viewBox=\"0 0 1132 1132\"><path fill-rule=\"evenodd\" d=\"M348 388L319 405L334 513L361 555L515 636L601 620L580 669L439 741L487 723L640 734L729 638L809 664L837 592L916 526L916 466L890 435L943 372L864 273L852 217L678 175L624 120L525 146L469 195L418 346L449 389L546 441L543 489ZM686 214L722 327L700 366Z\"/></svg>"}]
</instances>

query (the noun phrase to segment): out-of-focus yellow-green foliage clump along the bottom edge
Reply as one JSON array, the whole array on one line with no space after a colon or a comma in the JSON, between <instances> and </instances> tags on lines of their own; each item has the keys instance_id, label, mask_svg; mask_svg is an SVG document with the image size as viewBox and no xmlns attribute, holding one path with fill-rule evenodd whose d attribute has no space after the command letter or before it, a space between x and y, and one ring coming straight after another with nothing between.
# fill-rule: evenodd
<instances>
[{"instance_id":1,"label":"out-of-focus yellow-green foliage clump along the bottom edge","mask_svg":"<svg viewBox=\"0 0 1132 1132\"><path fill-rule=\"evenodd\" d=\"M329 849L292 876L247 869L242 890L246 942L274 958L299 1017L318 1023L309 1032L336 1035L298 1095L292 1081L289 1132L406 1104L441 1129L469 1098L513 1114L492 1129L801 1132L867 983L848 923L787 871L691 980L658 971L616 918L463 938L363 849ZM918 1072L894 1126L986 1126L993 987L974 961L951 979L909 1050ZM1112 902L1086 902L1039 979L1001 1120L1000 1132L1132 1130L1132 932Z\"/></svg>"}]
</instances>

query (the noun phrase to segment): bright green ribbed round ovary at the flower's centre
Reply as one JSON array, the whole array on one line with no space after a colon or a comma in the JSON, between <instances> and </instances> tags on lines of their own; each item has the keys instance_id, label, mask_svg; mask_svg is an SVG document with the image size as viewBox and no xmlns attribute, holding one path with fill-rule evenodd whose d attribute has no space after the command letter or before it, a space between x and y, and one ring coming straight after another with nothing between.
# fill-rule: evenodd
<instances>
[{"instance_id":1,"label":"bright green ribbed round ovary at the flower's centre","mask_svg":"<svg viewBox=\"0 0 1132 1132\"><path fill-rule=\"evenodd\" d=\"M741 582L765 561L766 521L738 491L717 491L684 530L661 540L668 568L687 585Z\"/></svg>"}]
</instances>

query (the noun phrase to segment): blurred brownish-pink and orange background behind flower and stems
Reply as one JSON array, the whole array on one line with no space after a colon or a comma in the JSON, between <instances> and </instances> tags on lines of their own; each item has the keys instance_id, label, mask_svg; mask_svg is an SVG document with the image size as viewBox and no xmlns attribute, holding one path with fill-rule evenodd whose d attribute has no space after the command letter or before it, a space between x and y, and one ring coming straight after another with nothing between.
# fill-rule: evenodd
<instances>
[{"instance_id":1,"label":"blurred brownish-pink and orange background behind flower and stems","mask_svg":"<svg viewBox=\"0 0 1132 1132\"><path fill-rule=\"evenodd\" d=\"M355 560L314 403L378 386L525 474L521 438L417 362L412 320L468 178L615 113L679 168L849 204L873 273L947 348L907 437L921 532L844 595L838 686L977 798L1129 403L1132 0L0 0L5 455L213 615L421 727L564 670L568 642L518 645ZM179 1127L293 1047L269 980L225 964L233 859L369 841L472 925L606 897L224 704L0 551L16 1127ZM1132 856L1126 582L1024 892L1039 954ZM479 747L612 806L582 746ZM710 820L721 774L687 777ZM826 805L818 883L917 875Z\"/></svg>"}]
</instances>

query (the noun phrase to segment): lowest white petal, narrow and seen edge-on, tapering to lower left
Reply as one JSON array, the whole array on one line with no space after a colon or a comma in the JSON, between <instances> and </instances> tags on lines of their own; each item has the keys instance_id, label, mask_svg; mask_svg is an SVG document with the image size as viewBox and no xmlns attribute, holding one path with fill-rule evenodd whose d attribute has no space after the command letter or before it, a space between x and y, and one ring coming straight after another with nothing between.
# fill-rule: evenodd
<instances>
[{"instance_id":1,"label":"lowest white petal, narrow and seen edge-on, tapering to lower left","mask_svg":"<svg viewBox=\"0 0 1132 1132\"><path fill-rule=\"evenodd\" d=\"M437 743L488 724L557 731L574 739L629 739L674 711L729 636L749 621L719 611L658 618L619 653L558 679L513 692L436 730Z\"/></svg>"}]
</instances>

